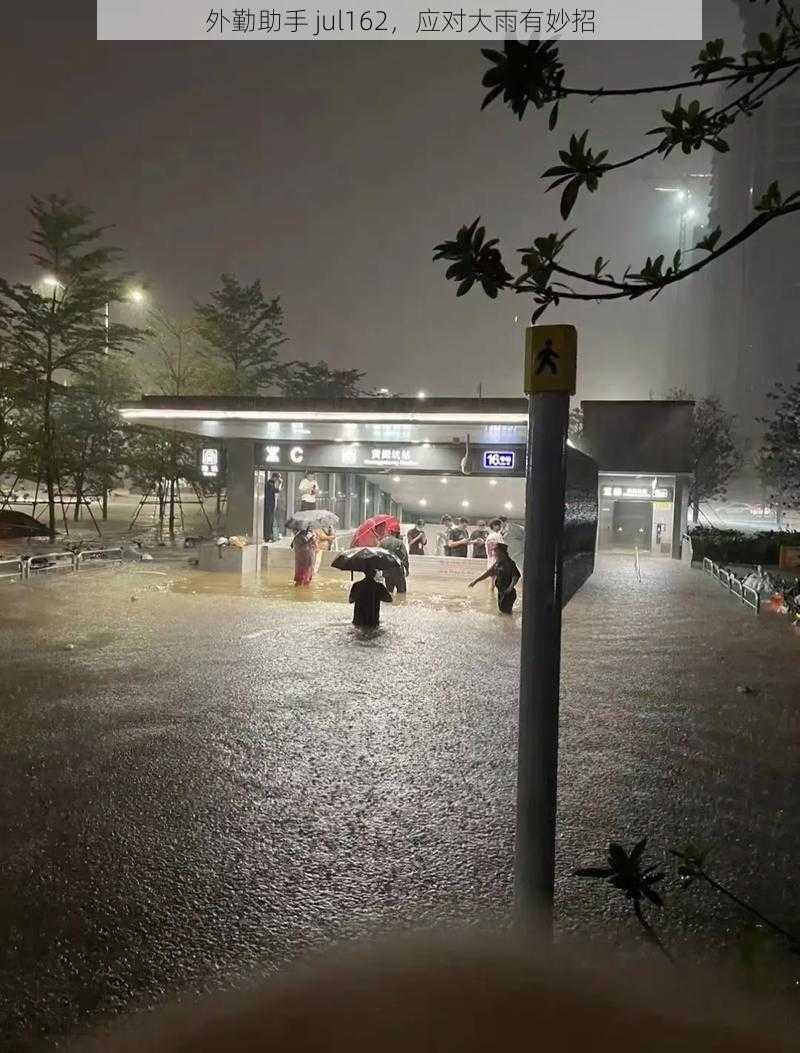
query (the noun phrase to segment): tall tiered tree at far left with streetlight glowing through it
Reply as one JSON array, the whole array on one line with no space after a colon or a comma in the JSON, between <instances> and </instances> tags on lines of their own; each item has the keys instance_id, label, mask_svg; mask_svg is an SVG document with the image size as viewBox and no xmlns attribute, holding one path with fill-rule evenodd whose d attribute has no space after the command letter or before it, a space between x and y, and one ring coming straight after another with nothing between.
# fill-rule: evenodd
<instances>
[{"instance_id":1,"label":"tall tiered tree at far left with streetlight glowing through it","mask_svg":"<svg viewBox=\"0 0 800 1053\"><path fill-rule=\"evenodd\" d=\"M106 310L124 299L128 276L117 266L119 250L104 245L104 227L91 210L68 197L35 197L32 257L42 285L11 284L0 278L0 315L8 369L38 403L39 470L47 493L48 526L56 534L59 443L55 400L57 374L84 376L106 354L133 350L139 331L106 324Z\"/></svg>"}]
</instances>

